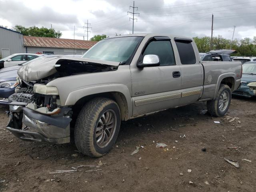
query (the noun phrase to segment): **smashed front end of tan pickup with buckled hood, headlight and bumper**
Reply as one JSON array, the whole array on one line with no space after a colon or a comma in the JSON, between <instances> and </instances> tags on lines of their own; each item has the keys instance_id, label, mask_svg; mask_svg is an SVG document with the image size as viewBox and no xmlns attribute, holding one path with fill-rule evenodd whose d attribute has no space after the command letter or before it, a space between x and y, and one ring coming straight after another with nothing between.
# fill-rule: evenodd
<instances>
[{"instance_id":1,"label":"smashed front end of tan pickup with buckled hood, headlight and bumper","mask_svg":"<svg viewBox=\"0 0 256 192\"><path fill-rule=\"evenodd\" d=\"M58 88L47 84L66 76L116 70L119 64L102 62L61 57L20 68L20 87L9 97L10 121L6 129L26 141L70 142L72 108L63 106Z\"/></svg>"}]
</instances>

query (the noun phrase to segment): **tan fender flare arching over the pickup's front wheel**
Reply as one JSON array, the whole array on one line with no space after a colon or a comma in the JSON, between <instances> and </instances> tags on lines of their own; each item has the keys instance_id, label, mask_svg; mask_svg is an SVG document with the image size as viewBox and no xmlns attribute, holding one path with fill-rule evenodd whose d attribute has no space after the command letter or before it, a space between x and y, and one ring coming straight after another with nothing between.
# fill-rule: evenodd
<instances>
[{"instance_id":1,"label":"tan fender flare arching over the pickup's front wheel","mask_svg":"<svg viewBox=\"0 0 256 192\"><path fill-rule=\"evenodd\" d=\"M124 95L126 98L128 106L128 116L132 116L132 98L127 86L124 84L100 84L95 86L88 86L74 90L68 94L68 97L65 102L65 106L72 106L76 104L78 100L85 96L92 94L106 93L106 92L119 92Z\"/></svg>"}]
</instances>

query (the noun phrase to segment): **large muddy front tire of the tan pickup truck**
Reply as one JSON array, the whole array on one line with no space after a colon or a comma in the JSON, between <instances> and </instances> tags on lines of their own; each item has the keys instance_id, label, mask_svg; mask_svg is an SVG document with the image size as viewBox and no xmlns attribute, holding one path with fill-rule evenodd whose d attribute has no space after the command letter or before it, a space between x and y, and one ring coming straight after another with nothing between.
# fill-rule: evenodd
<instances>
[{"instance_id":1,"label":"large muddy front tire of the tan pickup truck","mask_svg":"<svg viewBox=\"0 0 256 192\"><path fill-rule=\"evenodd\" d=\"M96 129L98 130L99 128L99 122L102 122L102 115L104 115L105 118L105 116L107 116L106 113L110 112L112 113L112 116L115 116L113 119L116 120L115 126L113 126L115 127L113 130L114 132L112 133L113 136L111 136L111 139L106 142L106 146L99 146L100 144L96 141ZM109 98L94 98L90 100L84 105L76 120L74 130L74 140L76 147L83 154L92 157L100 157L106 154L111 150L112 146L116 142L120 128L120 122L120 110L118 104L114 100ZM107 127L107 125L105 125L105 127ZM97 134L98 133L99 131ZM106 132L104 133L104 138L105 134Z\"/></svg>"}]
</instances>

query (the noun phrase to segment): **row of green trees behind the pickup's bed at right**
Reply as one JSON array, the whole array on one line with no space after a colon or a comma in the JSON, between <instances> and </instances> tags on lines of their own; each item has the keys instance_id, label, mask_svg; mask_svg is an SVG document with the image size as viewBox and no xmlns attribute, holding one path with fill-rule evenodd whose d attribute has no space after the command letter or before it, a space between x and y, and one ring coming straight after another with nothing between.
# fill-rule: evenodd
<instances>
[{"instance_id":1,"label":"row of green trees behind the pickup's bed at right","mask_svg":"<svg viewBox=\"0 0 256 192\"><path fill-rule=\"evenodd\" d=\"M210 36L193 38L199 52L206 53L210 51ZM230 49L231 40L223 38L221 35L212 38L212 50L214 49ZM232 42L232 50L236 50L234 56L256 56L256 36L251 38L234 39Z\"/></svg>"}]
</instances>

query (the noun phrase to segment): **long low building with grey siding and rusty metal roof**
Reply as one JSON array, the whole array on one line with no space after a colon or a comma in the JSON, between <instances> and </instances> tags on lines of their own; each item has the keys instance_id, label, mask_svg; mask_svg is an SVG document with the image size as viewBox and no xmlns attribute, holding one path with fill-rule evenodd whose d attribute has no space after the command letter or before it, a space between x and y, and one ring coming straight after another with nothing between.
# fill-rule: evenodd
<instances>
[{"instance_id":1,"label":"long low building with grey siding and rusty metal roof","mask_svg":"<svg viewBox=\"0 0 256 192\"><path fill-rule=\"evenodd\" d=\"M84 54L96 41L23 36L0 26L0 58L14 53Z\"/></svg>"}]
</instances>

